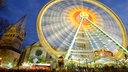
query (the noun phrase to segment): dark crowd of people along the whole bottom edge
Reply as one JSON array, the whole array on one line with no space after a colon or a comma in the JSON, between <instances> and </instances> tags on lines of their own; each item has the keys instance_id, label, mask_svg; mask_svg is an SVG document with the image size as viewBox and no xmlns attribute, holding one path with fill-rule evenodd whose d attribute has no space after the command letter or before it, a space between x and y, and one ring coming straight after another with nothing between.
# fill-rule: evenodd
<instances>
[{"instance_id":1,"label":"dark crowd of people along the whole bottom edge","mask_svg":"<svg viewBox=\"0 0 128 72\"><path fill-rule=\"evenodd\" d=\"M72 69L59 68L0 68L0 72L128 72L128 68L114 68L114 66L104 66L102 68L76 67Z\"/></svg>"}]
</instances>

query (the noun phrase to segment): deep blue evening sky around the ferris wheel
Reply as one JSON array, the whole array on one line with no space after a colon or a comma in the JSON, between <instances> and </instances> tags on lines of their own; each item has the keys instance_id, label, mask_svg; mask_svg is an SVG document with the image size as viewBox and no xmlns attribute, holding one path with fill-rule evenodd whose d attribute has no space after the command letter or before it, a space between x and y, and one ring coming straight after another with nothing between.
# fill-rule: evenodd
<instances>
[{"instance_id":1,"label":"deep blue evening sky around the ferris wheel","mask_svg":"<svg viewBox=\"0 0 128 72\"><path fill-rule=\"evenodd\" d=\"M0 17L14 24L22 16L27 15L26 38L21 48L38 41L36 20L41 8L50 0L4 0L0 8ZM128 31L128 0L99 0L110 7L123 21Z\"/></svg>"}]
</instances>

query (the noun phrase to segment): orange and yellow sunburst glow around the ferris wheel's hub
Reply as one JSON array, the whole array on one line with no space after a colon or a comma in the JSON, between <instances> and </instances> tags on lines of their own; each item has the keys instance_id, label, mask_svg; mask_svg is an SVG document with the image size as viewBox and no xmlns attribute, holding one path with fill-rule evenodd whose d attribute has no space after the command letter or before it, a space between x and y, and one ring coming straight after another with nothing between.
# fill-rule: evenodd
<instances>
[{"instance_id":1,"label":"orange and yellow sunburst glow around the ferris wheel's hub","mask_svg":"<svg viewBox=\"0 0 128 72\"><path fill-rule=\"evenodd\" d=\"M83 7L74 6L74 7L71 7L70 9L67 9L66 17L69 18L72 24L75 24L76 26L78 26L81 21L81 18L80 18L81 12L86 12L89 15L88 19L94 23L97 23L96 21L98 20L97 19L98 14L85 7L83 8ZM86 28L90 28L89 22L87 22L86 19L83 20L82 26Z\"/></svg>"}]
</instances>

